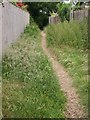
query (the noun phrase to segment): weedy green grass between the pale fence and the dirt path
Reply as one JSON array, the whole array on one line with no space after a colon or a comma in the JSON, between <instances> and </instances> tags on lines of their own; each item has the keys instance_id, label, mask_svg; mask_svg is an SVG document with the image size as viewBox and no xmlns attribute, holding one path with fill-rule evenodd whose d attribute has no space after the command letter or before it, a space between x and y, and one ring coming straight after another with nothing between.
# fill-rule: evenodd
<instances>
[{"instance_id":1,"label":"weedy green grass between the pale fence and the dirt path","mask_svg":"<svg viewBox=\"0 0 90 120\"><path fill-rule=\"evenodd\" d=\"M64 117L66 98L40 44L40 31L32 25L3 56L4 117Z\"/></svg>"}]
</instances>

